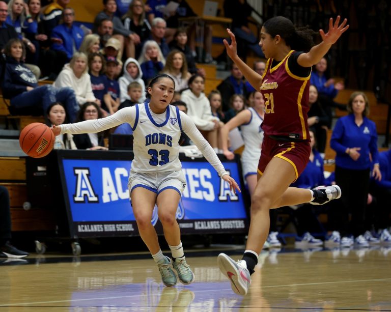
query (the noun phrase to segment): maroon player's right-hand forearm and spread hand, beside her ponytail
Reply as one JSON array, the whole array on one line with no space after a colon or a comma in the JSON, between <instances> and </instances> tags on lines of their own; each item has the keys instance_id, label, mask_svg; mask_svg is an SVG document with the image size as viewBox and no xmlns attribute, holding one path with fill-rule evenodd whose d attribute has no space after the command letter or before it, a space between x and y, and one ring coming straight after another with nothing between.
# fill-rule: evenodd
<instances>
[{"instance_id":1,"label":"maroon player's right-hand forearm and spread hand, beside her ponytail","mask_svg":"<svg viewBox=\"0 0 391 312\"><path fill-rule=\"evenodd\" d=\"M345 18L341 24L340 20L341 16L339 15L337 16L335 22L333 22L333 19L330 18L327 33L325 33L322 29L319 30L323 41L316 46L313 46L308 53L302 53L299 55L297 58L297 63L300 66L311 67L317 64L330 49L331 45L336 43L341 35L348 30L348 20Z\"/></svg>"}]
</instances>

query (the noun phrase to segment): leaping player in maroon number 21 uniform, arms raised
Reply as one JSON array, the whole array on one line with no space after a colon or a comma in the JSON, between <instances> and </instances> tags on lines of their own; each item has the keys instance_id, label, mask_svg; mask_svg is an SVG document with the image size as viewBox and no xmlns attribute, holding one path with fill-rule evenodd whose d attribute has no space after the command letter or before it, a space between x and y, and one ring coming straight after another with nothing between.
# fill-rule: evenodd
<instances>
[{"instance_id":1,"label":"leaping player in maroon number 21 uniform, arms raised","mask_svg":"<svg viewBox=\"0 0 391 312\"><path fill-rule=\"evenodd\" d=\"M309 202L322 205L341 197L337 185L312 190L289 185L304 170L311 152L307 124L311 67L348 29L346 23L344 19L340 24L340 16L335 23L330 18L328 32L319 31L323 41L314 45L312 30L296 29L282 16L267 20L261 29L259 43L268 59L262 76L239 58L235 36L227 30L231 37L231 44L224 40L228 55L265 99L264 140L246 249L238 262L225 253L220 253L217 259L221 272L229 278L236 294L247 294L250 275L254 273L258 254L269 232L269 209Z\"/></svg>"}]
</instances>

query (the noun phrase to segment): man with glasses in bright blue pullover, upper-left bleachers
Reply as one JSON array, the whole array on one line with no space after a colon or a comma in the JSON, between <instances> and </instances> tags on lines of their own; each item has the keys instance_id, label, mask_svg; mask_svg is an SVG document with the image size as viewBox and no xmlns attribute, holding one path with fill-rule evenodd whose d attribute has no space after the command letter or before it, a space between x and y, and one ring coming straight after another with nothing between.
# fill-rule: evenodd
<instances>
[{"instance_id":1,"label":"man with glasses in bright blue pullover, upper-left bleachers","mask_svg":"<svg viewBox=\"0 0 391 312\"><path fill-rule=\"evenodd\" d=\"M72 8L66 8L63 11L63 23L55 26L51 32L50 39L53 42L51 48L55 51L62 51L67 54L68 61L72 59L84 38L84 32L73 24L75 11Z\"/></svg>"}]
</instances>

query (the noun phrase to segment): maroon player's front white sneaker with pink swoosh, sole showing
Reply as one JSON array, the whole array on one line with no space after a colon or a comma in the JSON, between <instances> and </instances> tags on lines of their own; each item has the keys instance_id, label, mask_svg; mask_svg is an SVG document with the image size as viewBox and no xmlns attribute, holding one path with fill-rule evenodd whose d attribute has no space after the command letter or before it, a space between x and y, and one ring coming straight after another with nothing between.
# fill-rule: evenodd
<instances>
[{"instance_id":1,"label":"maroon player's front white sneaker with pink swoosh, sole showing","mask_svg":"<svg viewBox=\"0 0 391 312\"><path fill-rule=\"evenodd\" d=\"M246 262L244 260L235 262L227 254L220 253L217 256L217 265L221 273L229 278L234 293L245 296L251 284L250 272L247 269Z\"/></svg>"}]
</instances>

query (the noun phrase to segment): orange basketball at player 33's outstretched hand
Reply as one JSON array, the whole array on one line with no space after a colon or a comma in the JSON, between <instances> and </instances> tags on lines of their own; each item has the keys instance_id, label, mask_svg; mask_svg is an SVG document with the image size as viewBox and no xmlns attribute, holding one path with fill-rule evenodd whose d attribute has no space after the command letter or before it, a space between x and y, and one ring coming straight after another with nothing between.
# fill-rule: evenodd
<instances>
[{"instance_id":1,"label":"orange basketball at player 33's outstretched hand","mask_svg":"<svg viewBox=\"0 0 391 312\"><path fill-rule=\"evenodd\" d=\"M42 123L32 123L20 132L20 148L34 158L41 158L51 152L54 146L54 134Z\"/></svg>"}]
</instances>

